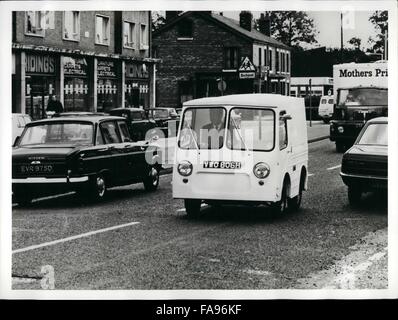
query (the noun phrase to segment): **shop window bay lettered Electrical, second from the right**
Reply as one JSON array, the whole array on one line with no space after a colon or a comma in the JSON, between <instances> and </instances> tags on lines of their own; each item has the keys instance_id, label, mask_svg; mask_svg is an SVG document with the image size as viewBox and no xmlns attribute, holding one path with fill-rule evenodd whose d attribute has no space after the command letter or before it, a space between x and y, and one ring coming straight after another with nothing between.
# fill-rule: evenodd
<instances>
[{"instance_id":1,"label":"shop window bay lettered Electrical, second from the right","mask_svg":"<svg viewBox=\"0 0 398 320\"><path fill-rule=\"evenodd\" d=\"M118 106L117 65L113 60L97 61L97 111L108 112Z\"/></svg>"}]
</instances>

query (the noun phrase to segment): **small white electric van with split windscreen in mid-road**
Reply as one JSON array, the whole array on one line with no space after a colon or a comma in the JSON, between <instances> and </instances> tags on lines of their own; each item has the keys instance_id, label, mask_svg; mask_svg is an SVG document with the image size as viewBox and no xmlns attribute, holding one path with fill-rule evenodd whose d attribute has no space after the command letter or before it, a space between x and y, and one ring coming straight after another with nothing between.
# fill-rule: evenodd
<instances>
[{"instance_id":1,"label":"small white electric van with split windscreen in mid-road","mask_svg":"<svg viewBox=\"0 0 398 320\"><path fill-rule=\"evenodd\" d=\"M241 94L184 103L173 197L184 199L187 215L202 203L297 210L307 174L304 99Z\"/></svg>"}]
</instances>

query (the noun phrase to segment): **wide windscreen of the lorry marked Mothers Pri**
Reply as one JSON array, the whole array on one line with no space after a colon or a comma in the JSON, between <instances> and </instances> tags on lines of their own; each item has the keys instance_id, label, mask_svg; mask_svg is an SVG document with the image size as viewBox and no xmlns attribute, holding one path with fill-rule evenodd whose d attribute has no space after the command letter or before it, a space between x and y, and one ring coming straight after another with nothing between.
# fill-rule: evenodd
<instances>
[{"instance_id":1,"label":"wide windscreen of the lorry marked Mothers Pri","mask_svg":"<svg viewBox=\"0 0 398 320\"><path fill-rule=\"evenodd\" d=\"M382 88L341 89L338 98L339 106L387 106L388 90Z\"/></svg>"}]
</instances>

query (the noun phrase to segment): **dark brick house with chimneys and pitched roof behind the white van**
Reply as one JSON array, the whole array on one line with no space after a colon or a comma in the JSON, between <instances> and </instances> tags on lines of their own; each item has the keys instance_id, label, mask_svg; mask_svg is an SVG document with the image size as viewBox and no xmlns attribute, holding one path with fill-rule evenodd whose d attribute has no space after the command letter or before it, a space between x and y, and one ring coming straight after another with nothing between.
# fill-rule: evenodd
<instances>
[{"instance_id":1,"label":"dark brick house with chimneys and pitched roof behind the white van","mask_svg":"<svg viewBox=\"0 0 398 320\"><path fill-rule=\"evenodd\" d=\"M240 13L240 21L210 11L172 13L166 12L166 24L152 39L154 56L162 60L157 105L179 107L194 98L232 93L289 95L291 50L269 36L267 17L260 19L260 32L248 11ZM245 60L255 72L239 72Z\"/></svg>"}]
</instances>

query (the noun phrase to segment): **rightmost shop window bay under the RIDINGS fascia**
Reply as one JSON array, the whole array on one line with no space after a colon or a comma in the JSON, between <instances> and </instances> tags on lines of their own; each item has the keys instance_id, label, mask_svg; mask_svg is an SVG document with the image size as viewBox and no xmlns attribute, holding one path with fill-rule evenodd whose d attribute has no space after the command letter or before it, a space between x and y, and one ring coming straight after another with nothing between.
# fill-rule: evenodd
<instances>
[{"instance_id":1,"label":"rightmost shop window bay under the RIDINGS fascia","mask_svg":"<svg viewBox=\"0 0 398 320\"><path fill-rule=\"evenodd\" d=\"M125 107L148 109L149 72L145 63L125 64Z\"/></svg>"}]
</instances>

